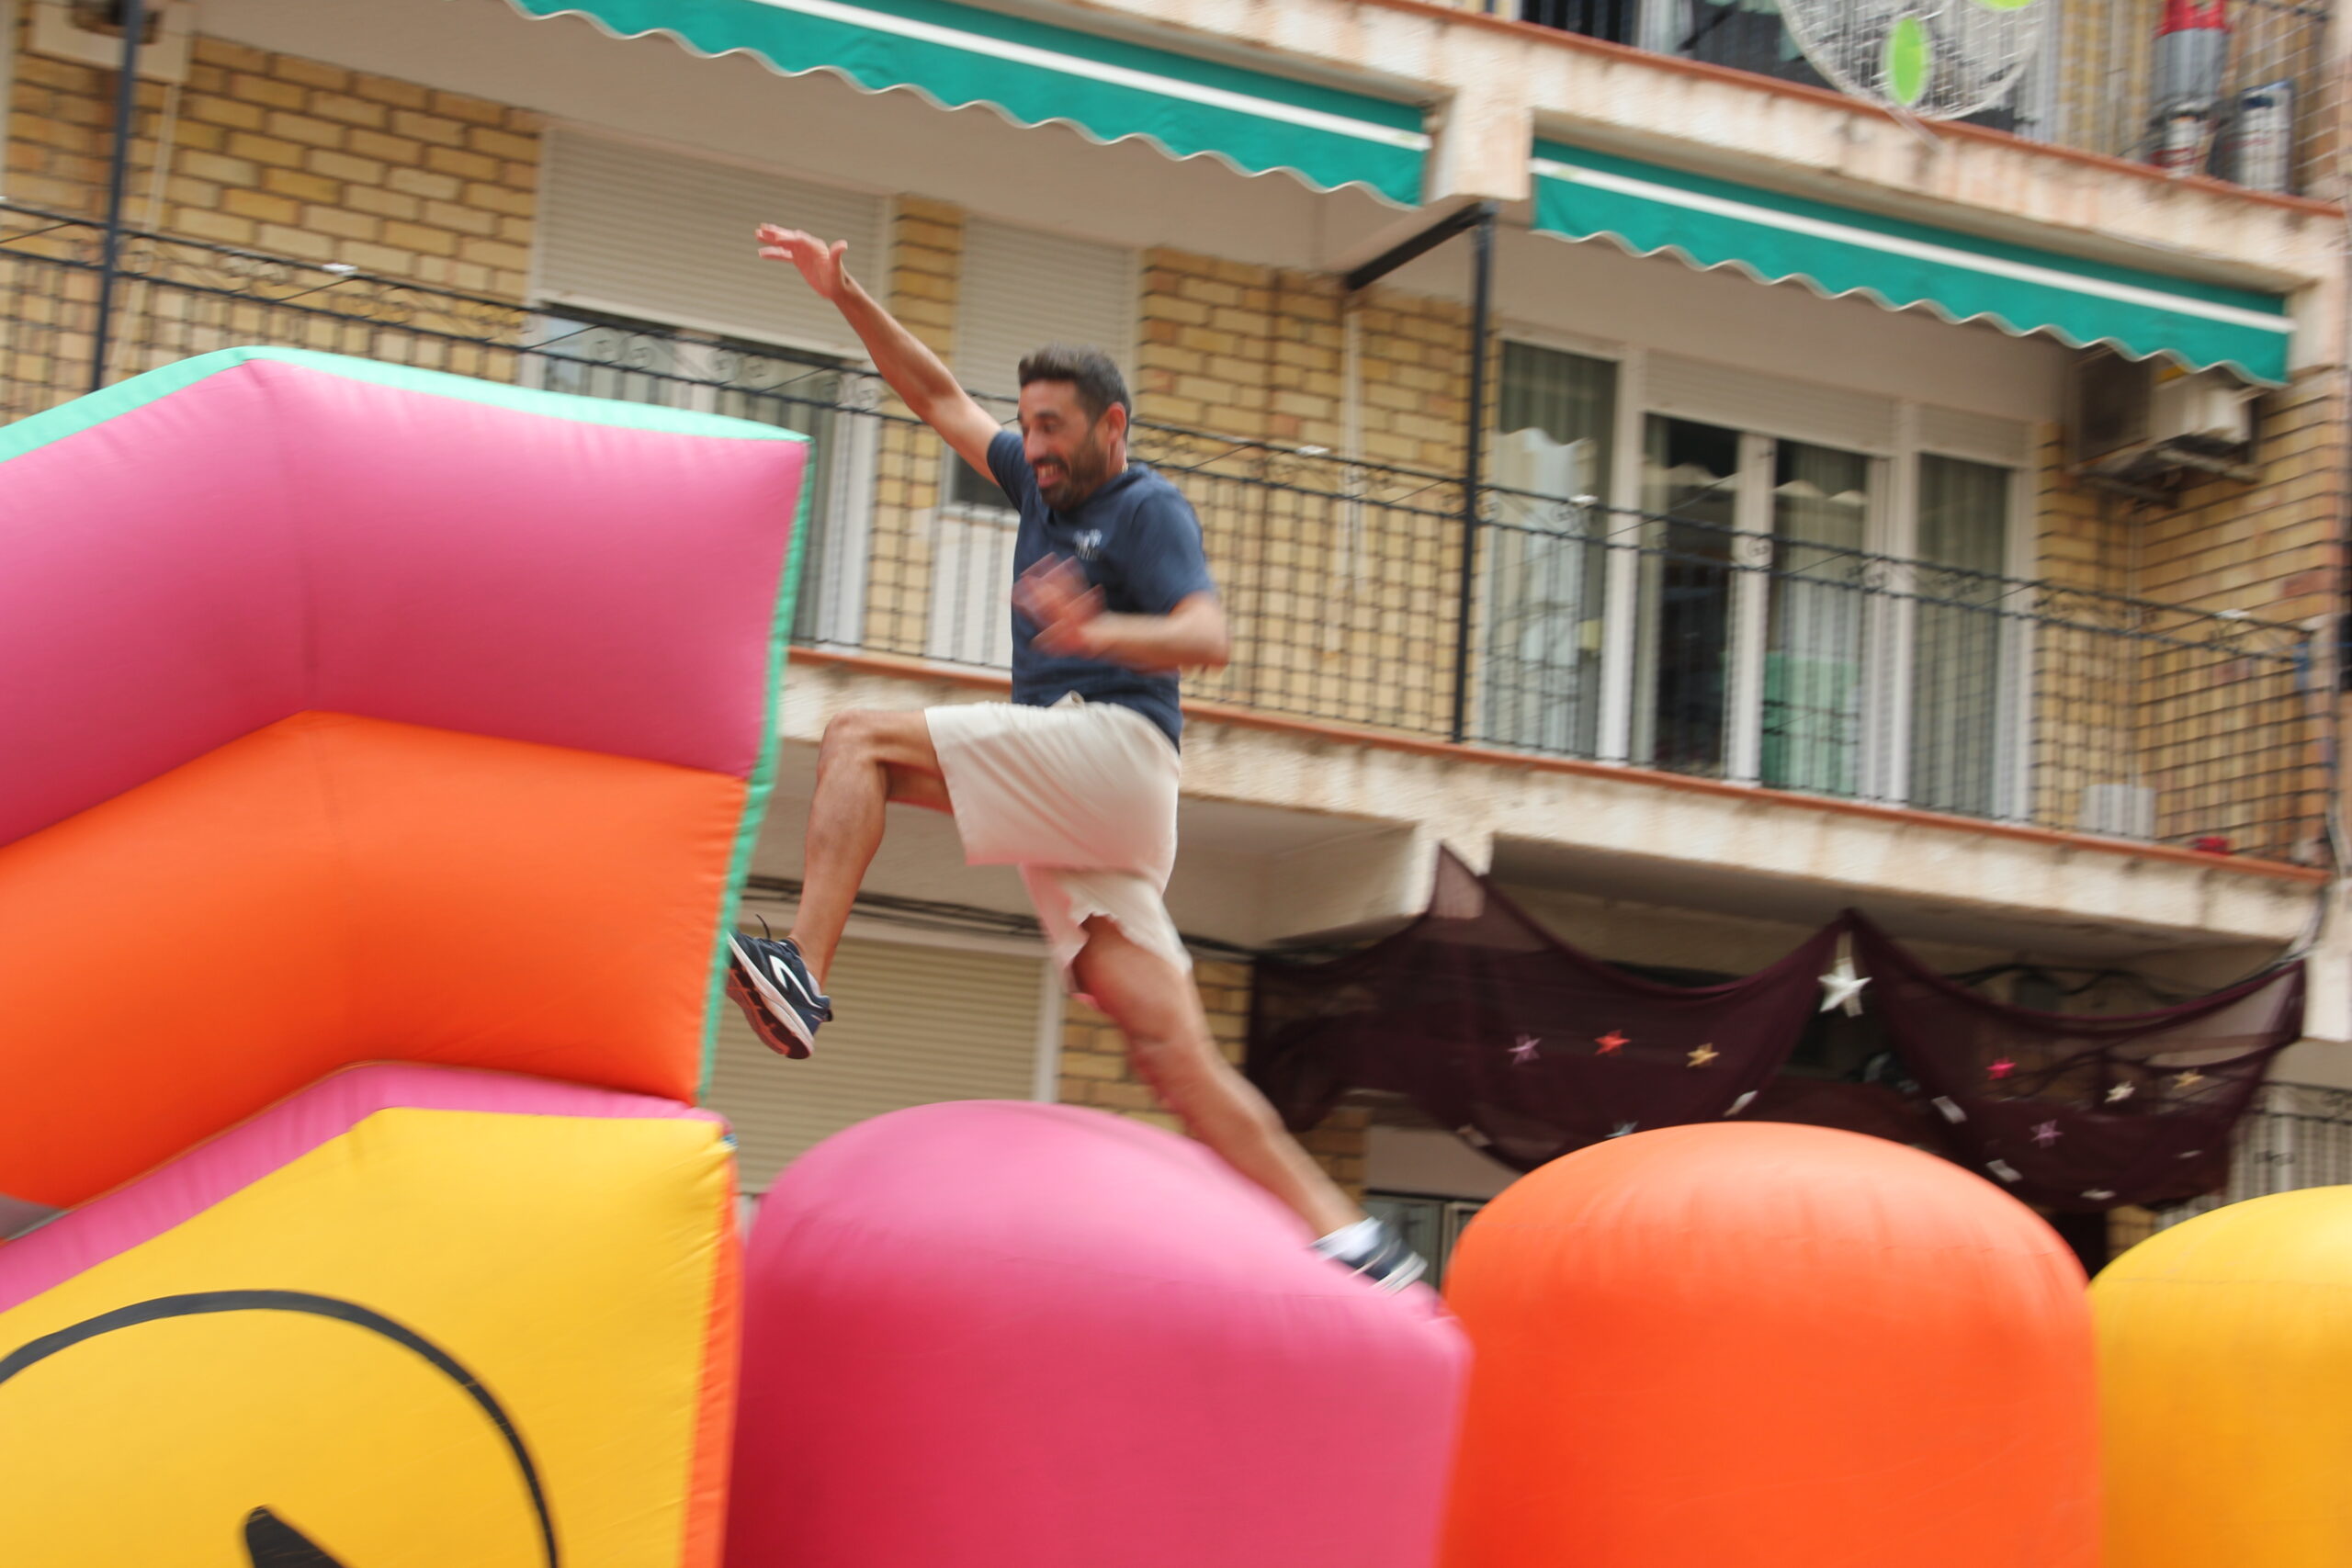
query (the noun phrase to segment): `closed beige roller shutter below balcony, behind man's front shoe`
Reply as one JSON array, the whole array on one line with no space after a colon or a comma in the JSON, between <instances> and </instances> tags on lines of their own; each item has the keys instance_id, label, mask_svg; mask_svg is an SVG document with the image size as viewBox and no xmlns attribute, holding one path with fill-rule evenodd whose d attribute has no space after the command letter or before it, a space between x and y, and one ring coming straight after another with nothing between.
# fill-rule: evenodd
<instances>
[{"instance_id":1,"label":"closed beige roller shutter below balcony, behind man's front shoe","mask_svg":"<svg viewBox=\"0 0 2352 1568\"><path fill-rule=\"evenodd\" d=\"M1044 959L847 940L826 976L835 1020L804 1063L762 1046L727 1004L710 1110L734 1126L743 1190L764 1192L811 1145L884 1112L1033 1098L1044 983Z\"/></svg>"}]
</instances>

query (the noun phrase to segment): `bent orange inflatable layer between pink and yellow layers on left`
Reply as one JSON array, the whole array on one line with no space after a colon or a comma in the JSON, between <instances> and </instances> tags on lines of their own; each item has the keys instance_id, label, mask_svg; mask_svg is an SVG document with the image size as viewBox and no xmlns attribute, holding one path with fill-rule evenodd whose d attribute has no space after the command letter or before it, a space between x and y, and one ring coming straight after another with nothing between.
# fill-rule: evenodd
<instances>
[{"instance_id":1,"label":"bent orange inflatable layer between pink and yellow layers on left","mask_svg":"<svg viewBox=\"0 0 2352 1568\"><path fill-rule=\"evenodd\" d=\"M306 712L0 846L0 1194L78 1204L367 1060L691 1100L743 795Z\"/></svg>"}]
</instances>

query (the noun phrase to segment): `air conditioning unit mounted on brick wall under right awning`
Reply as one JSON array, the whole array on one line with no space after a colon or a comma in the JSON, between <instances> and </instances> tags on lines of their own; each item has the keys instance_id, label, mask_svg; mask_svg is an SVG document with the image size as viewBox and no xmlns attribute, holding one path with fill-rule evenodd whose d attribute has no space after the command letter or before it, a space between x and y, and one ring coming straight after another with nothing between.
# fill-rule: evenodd
<instances>
[{"instance_id":1,"label":"air conditioning unit mounted on brick wall under right awning","mask_svg":"<svg viewBox=\"0 0 2352 1568\"><path fill-rule=\"evenodd\" d=\"M2152 484L2178 470L2251 480L2256 388L2098 350L2074 364L2067 409L2077 473Z\"/></svg>"}]
</instances>

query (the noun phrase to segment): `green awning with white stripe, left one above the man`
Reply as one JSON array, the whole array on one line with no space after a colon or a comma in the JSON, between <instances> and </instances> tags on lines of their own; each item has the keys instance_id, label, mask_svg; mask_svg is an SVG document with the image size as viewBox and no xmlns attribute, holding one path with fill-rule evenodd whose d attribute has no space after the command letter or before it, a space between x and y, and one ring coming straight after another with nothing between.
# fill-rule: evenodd
<instances>
[{"instance_id":1,"label":"green awning with white stripe, left one above the man","mask_svg":"<svg viewBox=\"0 0 2352 1568\"><path fill-rule=\"evenodd\" d=\"M1421 200L1430 139L1414 103L953 0L508 5L588 16L621 38L668 33L696 54L753 54L783 75L833 71L866 92L985 103L1018 125L1070 125L1096 141L1141 136L1174 158L1218 158L1244 174L1287 169L1319 190L1364 186L1406 207Z\"/></svg>"}]
</instances>

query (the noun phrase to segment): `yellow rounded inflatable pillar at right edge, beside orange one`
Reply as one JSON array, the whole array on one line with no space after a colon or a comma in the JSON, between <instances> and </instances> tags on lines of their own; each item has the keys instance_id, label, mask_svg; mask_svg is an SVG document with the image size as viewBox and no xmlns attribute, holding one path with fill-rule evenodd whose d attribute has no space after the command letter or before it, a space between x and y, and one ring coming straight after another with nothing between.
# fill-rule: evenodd
<instances>
[{"instance_id":1,"label":"yellow rounded inflatable pillar at right edge, beside orange one","mask_svg":"<svg viewBox=\"0 0 2352 1568\"><path fill-rule=\"evenodd\" d=\"M2159 1232L2091 1302L2105 1568L2352 1563L2352 1187Z\"/></svg>"}]
</instances>

